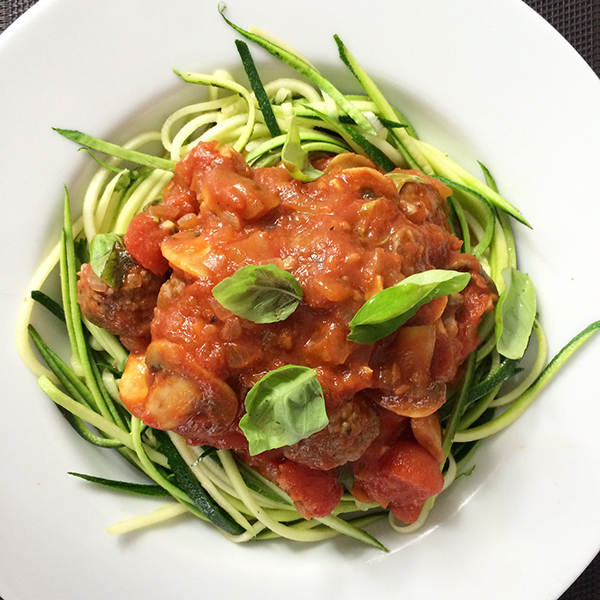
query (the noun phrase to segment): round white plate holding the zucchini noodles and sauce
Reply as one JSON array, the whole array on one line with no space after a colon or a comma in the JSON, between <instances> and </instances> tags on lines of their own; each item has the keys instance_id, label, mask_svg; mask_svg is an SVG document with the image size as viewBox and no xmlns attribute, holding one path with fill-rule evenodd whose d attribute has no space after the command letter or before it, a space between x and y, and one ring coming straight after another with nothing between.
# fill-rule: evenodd
<instances>
[{"instance_id":1,"label":"round white plate holding the zucchini noodles and sauce","mask_svg":"<svg viewBox=\"0 0 600 600\"><path fill-rule=\"evenodd\" d=\"M425 530L376 528L384 555L348 540L234 546L185 519L123 537L104 527L152 501L67 471L127 476L73 435L14 350L15 319L56 238L62 185L77 202L89 158L51 131L116 139L158 120L185 87L171 66L238 64L216 1L42 0L0 38L0 594L5 600L363 598L555 600L600 547L600 339L487 444ZM600 317L600 83L517 0L231 1L228 16L343 74L332 34L425 139L482 160L533 223L517 227L555 353ZM254 52L263 73L272 61ZM343 81L350 82L347 75ZM598 336L600 338L600 336Z\"/></svg>"}]
</instances>

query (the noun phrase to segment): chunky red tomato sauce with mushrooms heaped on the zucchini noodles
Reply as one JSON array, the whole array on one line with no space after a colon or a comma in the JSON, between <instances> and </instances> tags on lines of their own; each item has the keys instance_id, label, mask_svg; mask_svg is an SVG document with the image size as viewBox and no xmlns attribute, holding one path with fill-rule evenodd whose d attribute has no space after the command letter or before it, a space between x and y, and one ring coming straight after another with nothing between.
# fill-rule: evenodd
<instances>
[{"instance_id":1,"label":"chunky red tomato sauce with mushrooms heaped on the zucchini noodles","mask_svg":"<svg viewBox=\"0 0 600 600\"><path fill-rule=\"evenodd\" d=\"M344 470L359 500L412 522L441 491L437 411L479 342L477 326L494 295L450 232L450 190L439 181L398 171L404 179L397 184L352 154L317 166L324 175L300 183L283 167L250 169L216 143L199 144L177 166L162 203L138 215L125 237L135 260L165 283L149 333L130 346L122 398L152 427L233 449L285 489L304 516L331 512ZM302 287L289 318L255 324L214 299L225 277L267 263ZM347 340L368 298L436 268L469 272L471 281L376 344ZM238 426L244 397L285 364L316 370L329 425L250 456Z\"/></svg>"}]
</instances>

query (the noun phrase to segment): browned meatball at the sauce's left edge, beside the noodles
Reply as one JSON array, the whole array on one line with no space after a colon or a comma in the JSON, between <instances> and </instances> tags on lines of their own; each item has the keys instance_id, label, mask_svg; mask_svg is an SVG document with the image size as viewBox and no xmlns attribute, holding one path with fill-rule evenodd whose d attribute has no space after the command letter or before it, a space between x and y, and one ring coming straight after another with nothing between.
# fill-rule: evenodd
<instances>
[{"instance_id":1,"label":"browned meatball at the sauce's left edge, beside the noodles","mask_svg":"<svg viewBox=\"0 0 600 600\"><path fill-rule=\"evenodd\" d=\"M131 351L150 342L150 322L165 275L154 275L137 263L116 288L102 281L89 264L81 267L77 298L83 315L94 325L120 336Z\"/></svg>"}]
</instances>

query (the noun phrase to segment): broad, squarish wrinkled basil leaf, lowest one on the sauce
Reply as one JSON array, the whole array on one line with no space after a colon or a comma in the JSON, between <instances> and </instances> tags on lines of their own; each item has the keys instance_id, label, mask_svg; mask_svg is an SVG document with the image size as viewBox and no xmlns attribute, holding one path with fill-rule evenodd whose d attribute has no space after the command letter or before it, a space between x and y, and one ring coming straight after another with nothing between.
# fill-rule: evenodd
<instances>
[{"instance_id":1,"label":"broad, squarish wrinkled basil leaf, lowest one on the sauce","mask_svg":"<svg viewBox=\"0 0 600 600\"><path fill-rule=\"evenodd\" d=\"M240 428L250 454L295 444L329 423L323 388L308 367L285 365L267 373L246 396Z\"/></svg>"}]
</instances>

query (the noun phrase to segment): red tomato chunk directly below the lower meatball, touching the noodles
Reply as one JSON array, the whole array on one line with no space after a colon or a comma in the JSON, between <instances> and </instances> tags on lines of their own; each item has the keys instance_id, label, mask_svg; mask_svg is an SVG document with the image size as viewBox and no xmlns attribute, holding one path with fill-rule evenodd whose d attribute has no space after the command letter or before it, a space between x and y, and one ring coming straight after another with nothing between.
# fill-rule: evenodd
<instances>
[{"instance_id":1,"label":"red tomato chunk directly below the lower meatball, touching the noodles","mask_svg":"<svg viewBox=\"0 0 600 600\"><path fill-rule=\"evenodd\" d=\"M279 466L277 483L305 519L331 514L344 493L336 471L317 471L291 460Z\"/></svg>"}]
</instances>

